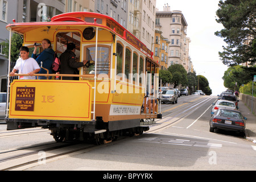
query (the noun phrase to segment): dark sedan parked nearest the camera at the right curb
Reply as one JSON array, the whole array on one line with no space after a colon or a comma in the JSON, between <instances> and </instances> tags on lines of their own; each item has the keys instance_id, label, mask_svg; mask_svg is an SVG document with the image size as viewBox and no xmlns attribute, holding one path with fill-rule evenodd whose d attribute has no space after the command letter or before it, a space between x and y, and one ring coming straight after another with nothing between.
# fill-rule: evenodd
<instances>
[{"instance_id":1,"label":"dark sedan parked nearest the camera at the right curb","mask_svg":"<svg viewBox=\"0 0 256 182\"><path fill-rule=\"evenodd\" d=\"M245 120L238 110L218 109L210 118L210 132L214 129L238 131L245 134Z\"/></svg>"}]
</instances>

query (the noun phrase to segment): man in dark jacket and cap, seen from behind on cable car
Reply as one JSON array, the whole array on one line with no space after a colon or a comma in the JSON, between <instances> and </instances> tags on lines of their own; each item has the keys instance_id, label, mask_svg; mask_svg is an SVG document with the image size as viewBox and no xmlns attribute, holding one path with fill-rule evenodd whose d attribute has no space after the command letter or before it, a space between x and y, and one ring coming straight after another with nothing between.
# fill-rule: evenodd
<instances>
[{"instance_id":1,"label":"man in dark jacket and cap, seen from behind on cable car","mask_svg":"<svg viewBox=\"0 0 256 182\"><path fill-rule=\"evenodd\" d=\"M60 74L78 74L77 68L83 67L87 61L76 62L76 45L68 43L67 50L60 55ZM62 77L63 80L79 80L78 77Z\"/></svg>"}]
</instances>

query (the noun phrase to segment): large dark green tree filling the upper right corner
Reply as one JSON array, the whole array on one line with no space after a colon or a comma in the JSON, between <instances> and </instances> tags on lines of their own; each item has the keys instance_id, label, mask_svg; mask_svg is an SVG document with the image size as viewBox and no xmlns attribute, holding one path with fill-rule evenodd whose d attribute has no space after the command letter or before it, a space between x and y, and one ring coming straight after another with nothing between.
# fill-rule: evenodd
<instances>
[{"instance_id":1,"label":"large dark green tree filling the upper right corner","mask_svg":"<svg viewBox=\"0 0 256 182\"><path fill-rule=\"evenodd\" d=\"M222 63L233 66L256 61L256 0L219 1L216 21L224 26L215 35L224 38L228 46L219 52Z\"/></svg>"}]
</instances>

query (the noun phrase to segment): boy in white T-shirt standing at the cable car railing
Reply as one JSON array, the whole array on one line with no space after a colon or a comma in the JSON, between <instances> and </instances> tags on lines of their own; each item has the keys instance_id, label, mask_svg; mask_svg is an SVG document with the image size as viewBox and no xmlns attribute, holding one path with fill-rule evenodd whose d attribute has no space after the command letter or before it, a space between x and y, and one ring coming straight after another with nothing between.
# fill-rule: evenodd
<instances>
[{"instance_id":1,"label":"boy in white T-shirt standing at the cable car railing","mask_svg":"<svg viewBox=\"0 0 256 182\"><path fill-rule=\"evenodd\" d=\"M14 76L16 71L19 71L20 74L29 74L30 76L19 76L20 80L35 80L35 73L40 71L40 67L35 59L28 57L30 52L26 46L22 46L19 49L20 58L16 61L16 64L13 68L13 71L10 73L10 76Z\"/></svg>"}]
</instances>

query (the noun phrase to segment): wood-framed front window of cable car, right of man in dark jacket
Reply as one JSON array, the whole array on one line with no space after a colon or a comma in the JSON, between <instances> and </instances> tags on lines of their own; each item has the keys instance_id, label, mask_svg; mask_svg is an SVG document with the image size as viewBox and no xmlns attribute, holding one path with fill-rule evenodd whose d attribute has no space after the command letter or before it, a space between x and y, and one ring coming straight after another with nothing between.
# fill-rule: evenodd
<instances>
[{"instance_id":1,"label":"wood-framed front window of cable car, right of man in dark jacket","mask_svg":"<svg viewBox=\"0 0 256 182\"><path fill-rule=\"evenodd\" d=\"M84 47L84 60L89 60L86 63L83 73L94 74L95 60L96 60L96 47ZM97 72L96 74L105 73L109 74L109 57L110 47L109 46L98 46L97 48Z\"/></svg>"}]
</instances>

